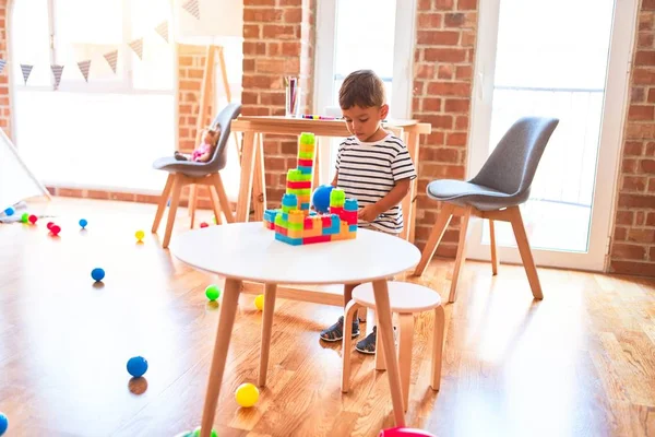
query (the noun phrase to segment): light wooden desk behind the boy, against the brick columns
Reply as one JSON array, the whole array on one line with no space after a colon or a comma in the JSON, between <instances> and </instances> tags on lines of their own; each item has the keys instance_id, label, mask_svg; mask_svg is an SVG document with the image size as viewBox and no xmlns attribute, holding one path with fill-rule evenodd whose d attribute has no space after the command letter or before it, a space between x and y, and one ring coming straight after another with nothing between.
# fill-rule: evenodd
<instances>
[{"instance_id":1,"label":"light wooden desk behind the boy, against the brick columns","mask_svg":"<svg viewBox=\"0 0 655 437\"><path fill-rule=\"evenodd\" d=\"M430 133L432 127L429 123L419 123L416 120L390 120L384 128L391 130L402 138L407 145L409 155L418 172L419 134ZM254 199L254 220L263 218L266 206L266 182L264 178L264 152L263 134L277 133L299 135L302 132L312 132L318 137L317 153L314 157L314 177L312 189L319 185L319 156L321 138L345 138L350 133L343 120L309 120L303 118L286 117L239 117L231 122L234 132L243 133L243 145L241 151L241 182L239 186L239 198L237 200L237 222L248 222L250 215L251 194ZM416 213L416 187L418 178L410 185L409 194L403 200L403 214L405 228L402 237L414 241L414 224Z\"/></svg>"}]
</instances>

